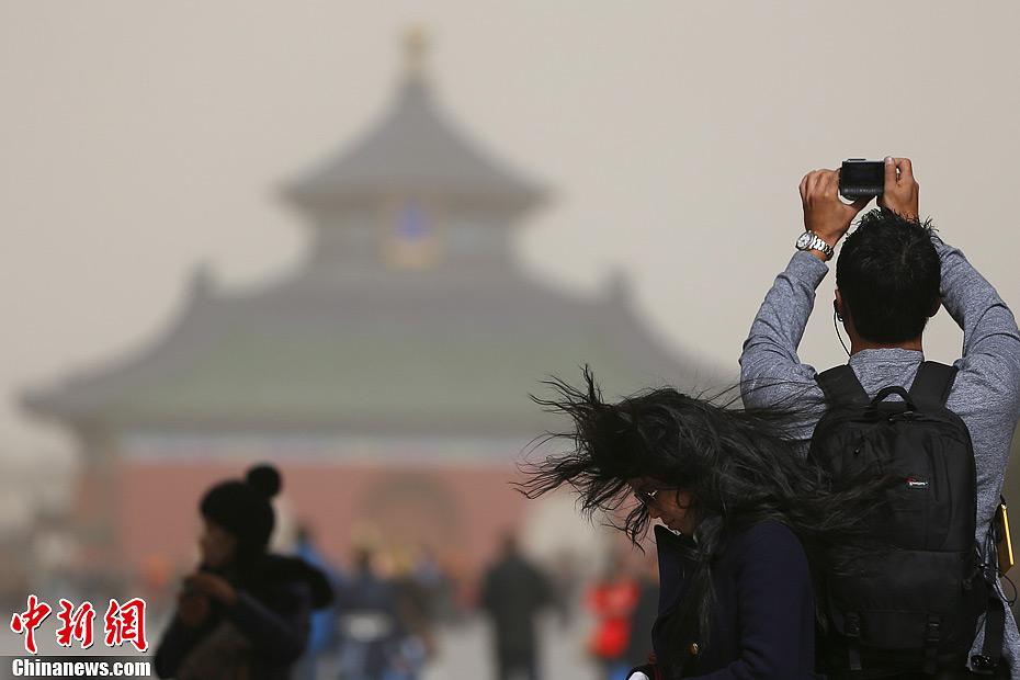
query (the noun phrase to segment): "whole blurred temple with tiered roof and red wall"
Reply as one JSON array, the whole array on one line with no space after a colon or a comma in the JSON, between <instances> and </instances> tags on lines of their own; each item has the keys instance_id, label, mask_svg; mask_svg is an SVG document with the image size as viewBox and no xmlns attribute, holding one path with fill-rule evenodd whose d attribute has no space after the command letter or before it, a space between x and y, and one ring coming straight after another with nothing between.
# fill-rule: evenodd
<instances>
[{"instance_id":1,"label":"whole blurred temple with tiered roof and red wall","mask_svg":"<svg viewBox=\"0 0 1020 680\"><path fill-rule=\"evenodd\" d=\"M374 531L476 571L505 529L556 531L508 484L565 424L529 399L541 381L587 363L615 395L696 376L624 286L583 297L519 270L514 230L548 192L447 117L423 48L408 38L366 134L286 184L313 241L295 271L242 291L199 272L157 341L24 395L80 446L83 568L189 564L200 495L270 460L327 554Z\"/></svg>"}]
</instances>

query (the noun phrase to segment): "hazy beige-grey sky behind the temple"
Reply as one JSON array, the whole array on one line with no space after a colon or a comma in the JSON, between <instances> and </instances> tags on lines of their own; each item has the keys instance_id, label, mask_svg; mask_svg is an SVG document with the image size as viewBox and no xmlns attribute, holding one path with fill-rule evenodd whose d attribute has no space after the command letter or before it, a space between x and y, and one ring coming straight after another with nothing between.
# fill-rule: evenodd
<instances>
[{"instance_id":1,"label":"hazy beige-grey sky behind the temple","mask_svg":"<svg viewBox=\"0 0 1020 680\"><path fill-rule=\"evenodd\" d=\"M624 272L673 347L736 365L801 177L848 156L913 157L922 214L1020 304L1013 2L0 0L0 455L67 450L19 390L151 339L199 263L233 288L298 261L276 188L384 110L419 22L444 109L557 192L524 267ZM944 311L926 342L956 356Z\"/></svg>"}]
</instances>

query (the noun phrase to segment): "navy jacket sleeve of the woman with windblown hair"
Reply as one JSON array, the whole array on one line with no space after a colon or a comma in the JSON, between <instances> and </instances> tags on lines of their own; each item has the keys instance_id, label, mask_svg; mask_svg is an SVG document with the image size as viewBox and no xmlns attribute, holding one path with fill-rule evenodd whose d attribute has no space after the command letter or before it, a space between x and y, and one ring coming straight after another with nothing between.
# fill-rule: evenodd
<instances>
[{"instance_id":1,"label":"navy jacket sleeve of the woman with windblown hair","mask_svg":"<svg viewBox=\"0 0 1020 680\"><path fill-rule=\"evenodd\" d=\"M793 680L814 664L814 597L807 557L785 526L748 532L737 562L738 658L702 680Z\"/></svg>"}]
</instances>

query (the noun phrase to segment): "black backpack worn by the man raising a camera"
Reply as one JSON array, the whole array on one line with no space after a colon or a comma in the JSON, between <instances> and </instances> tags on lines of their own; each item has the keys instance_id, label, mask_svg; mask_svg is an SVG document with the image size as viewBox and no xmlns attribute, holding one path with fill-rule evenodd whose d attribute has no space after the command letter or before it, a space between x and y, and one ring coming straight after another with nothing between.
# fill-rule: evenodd
<instances>
[{"instance_id":1,"label":"black backpack worn by the man raising a camera","mask_svg":"<svg viewBox=\"0 0 1020 680\"><path fill-rule=\"evenodd\" d=\"M976 473L971 435L945 408L952 366L923 362L907 392L869 398L848 365L818 375L828 410L809 461L835 488L889 479L868 539L830 547L821 564L819 670L866 678L883 671L961 668L991 600L974 540ZM902 400L886 401L891 395ZM1001 610L1001 604L999 605ZM989 616L990 619L990 616ZM977 657L994 667L1001 633Z\"/></svg>"}]
</instances>

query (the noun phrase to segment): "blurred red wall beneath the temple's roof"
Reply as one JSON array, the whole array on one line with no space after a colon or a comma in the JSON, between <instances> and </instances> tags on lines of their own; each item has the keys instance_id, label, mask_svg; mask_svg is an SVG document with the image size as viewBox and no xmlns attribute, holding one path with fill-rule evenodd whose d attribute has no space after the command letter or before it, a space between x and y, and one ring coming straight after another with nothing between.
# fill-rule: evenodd
<instances>
[{"instance_id":1,"label":"blurred red wall beneath the temple's roof","mask_svg":"<svg viewBox=\"0 0 1020 680\"><path fill-rule=\"evenodd\" d=\"M348 563L359 536L374 531L384 545L424 545L474 571L491 557L500 535L520 525L526 509L509 485L515 475L509 465L276 464L284 513L307 522L316 544L339 564ZM193 564L199 500L213 484L238 478L246 468L233 461L126 461L117 480L121 554L135 567L152 559Z\"/></svg>"}]
</instances>

